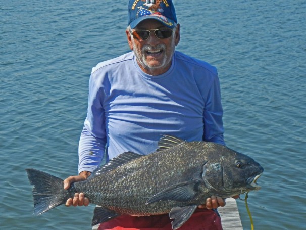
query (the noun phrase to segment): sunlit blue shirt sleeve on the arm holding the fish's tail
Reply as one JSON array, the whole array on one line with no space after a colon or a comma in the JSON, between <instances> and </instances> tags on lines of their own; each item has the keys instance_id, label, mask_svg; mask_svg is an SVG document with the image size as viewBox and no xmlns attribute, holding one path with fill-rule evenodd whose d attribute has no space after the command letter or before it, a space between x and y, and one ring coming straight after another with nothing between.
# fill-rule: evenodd
<instances>
[{"instance_id":1,"label":"sunlit blue shirt sleeve on the arm holding the fish's tail","mask_svg":"<svg viewBox=\"0 0 306 230\"><path fill-rule=\"evenodd\" d=\"M104 157L106 146L104 94L97 87L94 76L89 79L87 117L79 142L79 173L92 172Z\"/></svg>"}]
</instances>

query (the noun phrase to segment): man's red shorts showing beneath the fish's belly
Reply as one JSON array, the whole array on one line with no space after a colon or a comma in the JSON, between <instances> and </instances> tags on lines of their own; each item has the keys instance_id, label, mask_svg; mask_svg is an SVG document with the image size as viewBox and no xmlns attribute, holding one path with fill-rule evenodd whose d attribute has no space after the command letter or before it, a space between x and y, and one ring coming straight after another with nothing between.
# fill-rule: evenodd
<instances>
[{"instance_id":1,"label":"man's red shorts showing beneath the fish's belly","mask_svg":"<svg viewBox=\"0 0 306 230\"><path fill-rule=\"evenodd\" d=\"M169 214L155 216L122 215L101 223L98 230L172 230ZM213 210L196 209L179 230L222 230L221 218Z\"/></svg>"}]
</instances>

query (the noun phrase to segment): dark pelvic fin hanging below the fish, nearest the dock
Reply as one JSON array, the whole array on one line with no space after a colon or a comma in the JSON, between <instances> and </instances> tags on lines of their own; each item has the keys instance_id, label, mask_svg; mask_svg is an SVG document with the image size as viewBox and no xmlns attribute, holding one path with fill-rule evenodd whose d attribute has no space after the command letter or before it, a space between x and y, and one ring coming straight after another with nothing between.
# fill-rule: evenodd
<instances>
[{"instance_id":1,"label":"dark pelvic fin hanging below the fish, nearest the dock","mask_svg":"<svg viewBox=\"0 0 306 230\"><path fill-rule=\"evenodd\" d=\"M182 208L172 208L169 213L170 219L174 219L171 222L172 229L178 229L179 227L181 227L190 218L196 208L196 205L186 206Z\"/></svg>"}]
</instances>

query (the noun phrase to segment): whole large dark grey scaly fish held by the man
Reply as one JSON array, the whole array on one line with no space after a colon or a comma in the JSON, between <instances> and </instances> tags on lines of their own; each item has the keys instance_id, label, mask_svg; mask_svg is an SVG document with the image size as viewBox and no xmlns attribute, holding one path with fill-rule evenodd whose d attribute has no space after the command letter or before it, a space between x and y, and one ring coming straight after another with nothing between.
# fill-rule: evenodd
<instances>
[{"instance_id":1,"label":"whole large dark grey scaly fish held by the man","mask_svg":"<svg viewBox=\"0 0 306 230\"><path fill-rule=\"evenodd\" d=\"M256 180L263 168L244 154L216 143L185 142L169 135L158 146L158 151L145 156L121 154L68 190L63 189L62 179L26 169L34 185L34 214L84 192L90 203L101 206L94 210L92 225L122 214L169 213L177 229L212 195L228 198L260 189Z\"/></svg>"}]
</instances>

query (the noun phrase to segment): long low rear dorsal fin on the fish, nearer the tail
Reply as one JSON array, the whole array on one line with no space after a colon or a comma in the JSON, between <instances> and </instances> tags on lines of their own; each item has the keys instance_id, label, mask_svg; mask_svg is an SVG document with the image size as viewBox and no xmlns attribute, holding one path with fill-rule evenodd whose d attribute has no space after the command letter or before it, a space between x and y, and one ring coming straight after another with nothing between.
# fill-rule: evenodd
<instances>
[{"instance_id":1,"label":"long low rear dorsal fin on the fish, nearer the tail","mask_svg":"<svg viewBox=\"0 0 306 230\"><path fill-rule=\"evenodd\" d=\"M119 154L117 157L112 158L109 161L109 163L102 165L101 167L94 170L88 178L92 178L94 176L111 171L141 156L143 155L138 154L138 153L133 153L133 152L125 152L125 153Z\"/></svg>"}]
</instances>

